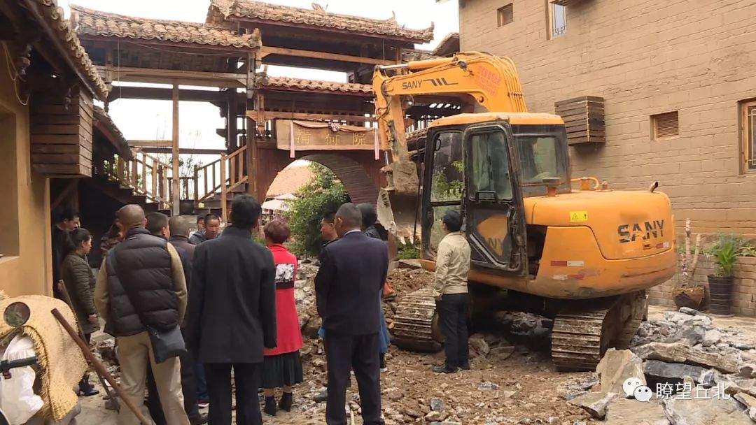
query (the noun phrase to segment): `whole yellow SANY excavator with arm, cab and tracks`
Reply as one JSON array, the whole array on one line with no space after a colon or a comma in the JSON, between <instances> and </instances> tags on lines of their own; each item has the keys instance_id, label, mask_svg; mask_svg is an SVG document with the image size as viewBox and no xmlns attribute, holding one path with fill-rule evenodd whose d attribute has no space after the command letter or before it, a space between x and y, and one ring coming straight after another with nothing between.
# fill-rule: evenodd
<instances>
[{"instance_id":1,"label":"whole yellow SANY excavator with arm, cab and tracks","mask_svg":"<svg viewBox=\"0 0 756 425\"><path fill-rule=\"evenodd\" d=\"M646 311L645 290L674 274L668 197L572 179L565 125L531 113L511 60L478 52L376 66L373 75L388 185L379 219L399 239L420 226L421 263L435 269L445 211L463 215L472 248L474 312L521 310L553 319L551 353L563 370L593 370L626 348ZM405 108L412 96L455 96L478 113L436 119L411 160ZM579 183L579 189L572 189ZM577 186L577 184L576 184ZM398 345L437 350L435 300L399 300Z\"/></svg>"}]
</instances>

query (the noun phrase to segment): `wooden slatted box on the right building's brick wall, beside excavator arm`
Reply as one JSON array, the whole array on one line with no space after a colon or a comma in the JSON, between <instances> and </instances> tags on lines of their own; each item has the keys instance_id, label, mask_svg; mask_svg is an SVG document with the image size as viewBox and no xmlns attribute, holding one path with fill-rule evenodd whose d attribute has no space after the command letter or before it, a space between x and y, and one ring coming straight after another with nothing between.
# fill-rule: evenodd
<instances>
[{"instance_id":1,"label":"wooden slatted box on the right building's brick wall, beside excavator arm","mask_svg":"<svg viewBox=\"0 0 756 425\"><path fill-rule=\"evenodd\" d=\"M554 103L554 110L565 121L570 145L606 142L603 97L581 96L562 100Z\"/></svg>"}]
</instances>

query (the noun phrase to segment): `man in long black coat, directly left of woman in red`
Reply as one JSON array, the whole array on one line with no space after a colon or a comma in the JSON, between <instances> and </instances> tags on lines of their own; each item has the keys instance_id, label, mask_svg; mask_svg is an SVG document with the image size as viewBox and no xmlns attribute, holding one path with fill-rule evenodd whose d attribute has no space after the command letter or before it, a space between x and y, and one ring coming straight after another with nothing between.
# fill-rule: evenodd
<instances>
[{"instance_id":1,"label":"man in long black coat, directly left of woman in red","mask_svg":"<svg viewBox=\"0 0 756 425\"><path fill-rule=\"evenodd\" d=\"M262 350L276 346L276 270L271 251L252 240L259 202L236 196L231 208L233 224L194 251L187 343L205 365L210 423L231 425L233 368L236 423L257 425Z\"/></svg>"}]
</instances>

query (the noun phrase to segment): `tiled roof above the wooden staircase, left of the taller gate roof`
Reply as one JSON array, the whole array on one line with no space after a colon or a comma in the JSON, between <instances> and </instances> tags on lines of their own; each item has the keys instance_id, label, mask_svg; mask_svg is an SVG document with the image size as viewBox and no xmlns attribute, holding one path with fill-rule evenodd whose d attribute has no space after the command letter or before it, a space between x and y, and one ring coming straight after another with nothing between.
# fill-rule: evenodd
<instances>
[{"instance_id":1,"label":"tiled roof above the wooden staircase, left of the taller gate roof","mask_svg":"<svg viewBox=\"0 0 756 425\"><path fill-rule=\"evenodd\" d=\"M72 16L81 35L101 35L195 45L259 48L259 33L238 34L230 29L204 23L129 17L71 5Z\"/></svg>"}]
</instances>

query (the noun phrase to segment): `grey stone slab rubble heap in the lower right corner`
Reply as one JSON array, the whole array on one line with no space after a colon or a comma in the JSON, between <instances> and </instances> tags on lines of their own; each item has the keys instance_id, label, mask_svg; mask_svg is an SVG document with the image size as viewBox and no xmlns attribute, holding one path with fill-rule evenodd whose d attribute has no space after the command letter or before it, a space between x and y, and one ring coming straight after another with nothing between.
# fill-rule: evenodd
<instances>
[{"instance_id":1,"label":"grey stone slab rubble heap in the lower right corner","mask_svg":"<svg viewBox=\"0 0 756 425\"><path fill-rule=\"evenodd\" d=\"M612 425L752 423L754 357L752 337L683 307L643 322L630 350L608 350L596 383L573 380L559 394Z\"/></svg>"}]
</instances>

